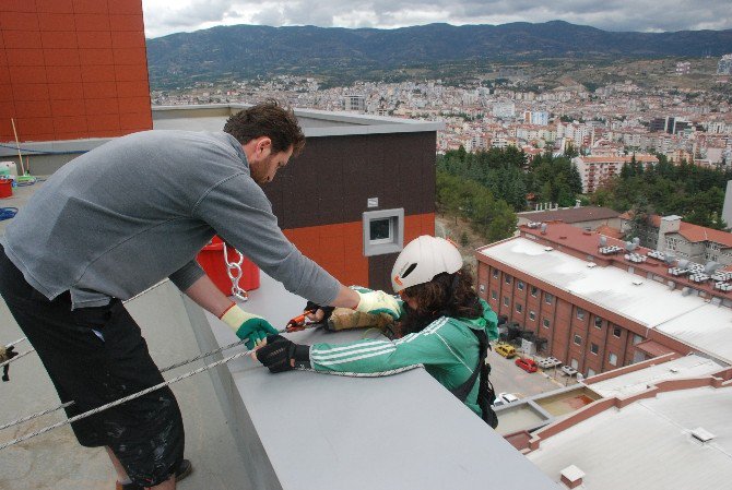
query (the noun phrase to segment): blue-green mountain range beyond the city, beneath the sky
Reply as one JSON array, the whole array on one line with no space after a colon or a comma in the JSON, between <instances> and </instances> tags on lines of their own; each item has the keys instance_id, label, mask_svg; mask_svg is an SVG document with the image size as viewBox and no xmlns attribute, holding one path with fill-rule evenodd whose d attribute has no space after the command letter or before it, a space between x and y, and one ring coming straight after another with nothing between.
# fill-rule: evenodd
<instances>
[{"instance_id":1,"label":"blue-green mountain range beyond the city, beneath the sky","mask_svg":"<svg viewBox=\"0 0 732 490\"><path fill-rule=\"evenodd\" d=\"M619 33L563 21L395 29L234 25L147 39L153 88L275 73L332 76L456 63L728 52L732 52L732 29Z\"/></svg>"}]
</instances>

